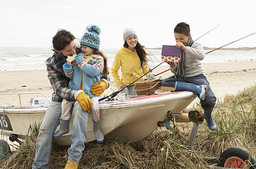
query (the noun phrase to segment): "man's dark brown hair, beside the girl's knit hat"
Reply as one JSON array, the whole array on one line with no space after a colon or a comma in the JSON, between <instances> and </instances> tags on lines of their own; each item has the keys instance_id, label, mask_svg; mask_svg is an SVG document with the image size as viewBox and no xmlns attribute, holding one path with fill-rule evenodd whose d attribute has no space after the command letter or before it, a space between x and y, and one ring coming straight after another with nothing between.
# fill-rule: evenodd
<instances>
[{"instance_id":1,"label":"man's dark brown hair, beside the girl's knit hat","mask_svg":"<svg viewBox=\"0 0 256 169\"><path fill-rule=\"evenodd\" d=\"M66 46L75 39L71 32L65 29L59 29L57 34L53 37L54 50L62 51Z\"/></svg>"}]
</instances>

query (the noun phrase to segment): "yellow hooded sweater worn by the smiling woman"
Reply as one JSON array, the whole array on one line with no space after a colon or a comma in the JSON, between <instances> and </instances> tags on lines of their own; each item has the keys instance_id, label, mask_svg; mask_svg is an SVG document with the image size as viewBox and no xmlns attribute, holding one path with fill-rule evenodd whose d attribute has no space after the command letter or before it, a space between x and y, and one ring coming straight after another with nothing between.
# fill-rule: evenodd
<instances>
[{"instance_id":1,"label":"yellow hooded sweater worn by the smiling woman","mask_svg":"<svg viewBox=\"0 0 256 169\"><path fill-rule=\"evenodd\" d=\"M140 78L143 74L149 72L147 64L144 63L143 65L145 66L144 70L142 70L141 68L140 58L138 57L136 50L134 50L133 52L129 48L122 47L119 51L116 52L115 59L111 68L111 74L114 78L116 86L128 86L132 82L136 81L136 79ZM118 75L118 70L120 69L120 66L122 72L121 79ZM138 81L142 80L143 78Z\"/></svg>"}]
</instances>

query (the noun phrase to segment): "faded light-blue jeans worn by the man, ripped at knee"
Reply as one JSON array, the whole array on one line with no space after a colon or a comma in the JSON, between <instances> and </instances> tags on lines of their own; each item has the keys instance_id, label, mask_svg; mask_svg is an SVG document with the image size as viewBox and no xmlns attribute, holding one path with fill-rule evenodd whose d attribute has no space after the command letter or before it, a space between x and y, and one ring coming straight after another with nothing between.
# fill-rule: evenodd
<instances>
[{"instance_id":1,"label":"faded light-blue jeans worn by the man, ripped at knee","mask_svg":"<svg viewBox=\"0 0 256 169\"><path fill-rule=\"evenodd\" d=\"M32 168L49 168L51 155L51 142L53 140L53 132L59 125L61 115L61 102L52 101L45 113L45 117L39 128L39 134L36 143L36 157ZM84 150L84 142L86 141L86 129L88 122L88 112L85 112L78 101L73 106L73 131L72 144L68 149L68 159L72 162L79 162Z\"/></svg>"}]
</instances>

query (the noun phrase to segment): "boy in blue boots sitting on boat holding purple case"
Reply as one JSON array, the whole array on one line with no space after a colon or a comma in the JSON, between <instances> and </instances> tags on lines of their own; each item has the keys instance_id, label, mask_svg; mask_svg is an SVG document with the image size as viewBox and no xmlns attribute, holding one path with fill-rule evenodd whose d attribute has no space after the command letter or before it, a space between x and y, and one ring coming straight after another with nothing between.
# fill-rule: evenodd
<instances>
[{"instance_id":1,"label":"boy in blue boots sitting on boat holding purple case","mask_svg":"<svg viewBox=\"0 0 256 169\"><path fill-rule=\"evenodd\" d=\"M174 36L177 48L181 49L181 61L180 63L167 61L174 75L164 79L162 86L175 87L175 91L197 92L208 127L216 130L216 124L211 117L216 97L205 77L201 63L205 58L205 51L199 43L192 40L189 25L186 23L175 26Z\"/></svg>"}]
</instances>

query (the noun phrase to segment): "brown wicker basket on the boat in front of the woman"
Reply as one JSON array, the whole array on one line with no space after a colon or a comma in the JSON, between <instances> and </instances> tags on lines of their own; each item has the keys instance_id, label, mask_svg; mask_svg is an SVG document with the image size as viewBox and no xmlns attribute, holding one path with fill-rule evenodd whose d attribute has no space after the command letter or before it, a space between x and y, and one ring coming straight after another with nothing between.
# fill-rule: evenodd
<instances>
[{"instance_id":1,"label":"brown wicker basket on the boat in front of the woman","mask_svg":"<svg viewBox=\"0 0 256 169\"><path fill-rule=\"evenodd\" d=\"M133 91L136 91L137 95L153 95L155 90L161 86L161 79L152 79L146 81L140 81L134 83Z\"/></svg>"}]
</instances>

